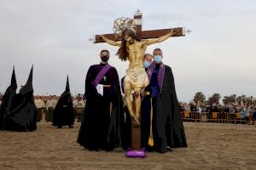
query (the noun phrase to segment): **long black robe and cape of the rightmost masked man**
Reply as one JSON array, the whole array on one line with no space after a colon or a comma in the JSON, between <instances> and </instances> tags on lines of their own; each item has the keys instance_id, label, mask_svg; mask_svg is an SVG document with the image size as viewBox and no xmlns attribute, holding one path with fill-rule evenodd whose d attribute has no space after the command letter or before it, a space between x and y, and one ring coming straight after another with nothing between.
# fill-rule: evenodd
<instances>
[{"instance_id":1,"label":"long black robe and cape of the rightmost masked man","mask_svg":"<svg viewBox=\"0 0 256 170\"><path fill-rule=\"evenodd\" d=\"M155 69L157 69L157 66ZM156 91L160 90L159 87L155 86L155 84L158 84L158 82L155 81L157 81L157 76L153 75L151 77L150 84L148 85L148 91L150 94L154 95L155 89ZM165 153L167 151L167 147L187 147L183 128L183 120L177 101L172 69L167 65L165 65L164 81L160 94L157 94L155 97L153 97L152 101L154 139L153 150ZM150 108L150 96L145 96L142 102L141 123L142 146L146 147L146 149L150 148L148 146L148 137L150 133ZM152 148L150 149L152 150Z\"/></svg>"}]
</instances>

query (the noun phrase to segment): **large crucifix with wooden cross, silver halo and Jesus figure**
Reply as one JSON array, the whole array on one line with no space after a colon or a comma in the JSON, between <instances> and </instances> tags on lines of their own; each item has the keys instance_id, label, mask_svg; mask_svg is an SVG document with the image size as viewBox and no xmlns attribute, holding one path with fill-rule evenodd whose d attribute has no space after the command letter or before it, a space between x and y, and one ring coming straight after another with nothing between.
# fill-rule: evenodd
<instances>
[{"instance_id":1,"label":"large crucifix with wooden cross, silver halo and Jesus figure","mask_svg":"<svg viewBox=\"0 0 256 170\"><path fill-rule=\"evenodd\" d=\"M125 101L133 123L131 125L131 149L141 150L140 93L148 86L148 76L143 68L143 54L148 45L163 42L169 37L184 36L182 27L142 31L142 13L134 19L120 18L114 21L113 34L96 35L94 42L108 42L119 46L119 59L129 59L130 65L124 80ZM133 99L131 100L131 94Z\"/></svg>"}]
</instances>

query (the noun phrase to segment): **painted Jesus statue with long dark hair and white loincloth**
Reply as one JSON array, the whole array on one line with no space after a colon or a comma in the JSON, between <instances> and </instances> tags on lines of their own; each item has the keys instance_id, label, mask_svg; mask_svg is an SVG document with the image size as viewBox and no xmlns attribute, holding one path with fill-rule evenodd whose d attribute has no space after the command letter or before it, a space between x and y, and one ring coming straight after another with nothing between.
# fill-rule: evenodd
<instances>
[{"instance_id":1,"label":"painted Jesus statue with long dark hair and white loincloth","mask_svg":"<svg viewBox=\"0 0 256 170\"><path fill-rule=\"evenodd\" d=\"M102 39L108 44L113 46L118 46L119 50L117 55L119 59L127 60L129 59L130 64L129 68L126 71L124 88L125 88L125 102L130 112L132 122L139 124L140 120L140 110L141 110L141 93L148 86L148 75L143 68L143 55L146 51L146 48L154 43L163 42L169 37L172 37L176 34L177 31L173 30L165 36L151 39L151 40L142 40L137 39L136 32L131 28L125 28L121 33L121 42L114 42L109 40L107 37L102 35ZM134 92L135 96L135 113L132 110L131 92Z\"/></svg>"}]
</instances>

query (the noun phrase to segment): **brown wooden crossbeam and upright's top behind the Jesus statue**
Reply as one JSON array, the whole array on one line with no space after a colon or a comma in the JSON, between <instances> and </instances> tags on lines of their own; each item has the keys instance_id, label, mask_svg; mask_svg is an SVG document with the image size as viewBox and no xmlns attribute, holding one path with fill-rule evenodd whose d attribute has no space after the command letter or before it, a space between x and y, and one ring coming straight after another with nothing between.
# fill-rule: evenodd
<instances>
[{"instance_id":1,"label":"brown wooden crossbeam and upright's top behind the Jesus statue","mask_svg":"<svg viewBox=\"0 0 256 170\"><path fill-rule=\"evenodd\" d=\"M184 28L183 27L177 27L177 28L168 28L168 29L160 29L160 30L148 30L148 31L142 31L142 19L143 14L142 13L136 13L134 14L134 23L136 26L136 33L138 39L152 39L152 38L158 38L165 36L167 33L172 31L172 29L175 29L177 31L176 34L174 34L172 37L180 37L185 36ZM113 41L121 41L121 37L116 37L115 34L103 34L104 37L107 37L109 40ZM101 35L95 35L93 38L94 43L104 42L102 40Z\"/></svg>"}]
</instances>

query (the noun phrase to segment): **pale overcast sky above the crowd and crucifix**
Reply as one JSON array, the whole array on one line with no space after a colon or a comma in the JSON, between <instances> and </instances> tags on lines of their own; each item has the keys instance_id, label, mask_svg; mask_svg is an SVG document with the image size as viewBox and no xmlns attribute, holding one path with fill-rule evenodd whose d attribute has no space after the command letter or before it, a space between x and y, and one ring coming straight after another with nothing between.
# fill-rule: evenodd
<instances>
[{"instance_id":1,"label":"pale overcast sky above the crowd and crucifix","mask_svg":"<svg viewBox=\"0 0 256 170\"><path fill-rule=\"evenodd\" d=\"M9 86L12 67L20 84L34 65L34 94L60 95L67 74L73 94L84 94L90 65L102 48L124 77L128 62L116 47L94 44L95 34L112 33L113 20L143 12L143 30L186 27L192 33L148 47L161 48L172 67L177 97L193 99L246 94L256 97L256 1L254 0L0 0L0 92Z\"/></svg>"}]
</instances>

